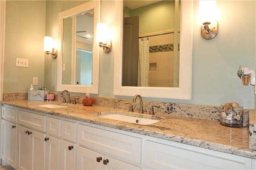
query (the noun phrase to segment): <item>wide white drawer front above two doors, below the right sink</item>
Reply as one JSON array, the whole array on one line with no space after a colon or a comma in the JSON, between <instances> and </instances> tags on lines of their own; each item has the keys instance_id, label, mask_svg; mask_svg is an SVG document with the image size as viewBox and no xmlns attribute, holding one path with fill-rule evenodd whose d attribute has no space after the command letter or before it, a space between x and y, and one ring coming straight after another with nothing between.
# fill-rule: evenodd
<instances>
[{"instance_id":1,"label":"wide white drawer front above two doors, below the right sink","mask_svg":"<svg viewBox=\"0 0 256 170\"><path fill-rule=\"evenodd\" d=\"M77 142L140 164L142 139L78 124Z\"/></svg>"}]
</instances>

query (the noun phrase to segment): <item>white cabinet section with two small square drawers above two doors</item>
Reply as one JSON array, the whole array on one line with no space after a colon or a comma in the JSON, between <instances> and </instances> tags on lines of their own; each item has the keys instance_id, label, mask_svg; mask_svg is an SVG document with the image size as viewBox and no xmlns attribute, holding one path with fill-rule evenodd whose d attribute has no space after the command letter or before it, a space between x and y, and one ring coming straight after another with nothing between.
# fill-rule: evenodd
<instances>
[{"instance_id":1,"label":"white cabinet section with two small square drawers above two doors","mask_svg":"<svg viewBox=\"0 0 256 170\"><path fill-rule=\"evenodd\" d=\"M77 123L47 117L46 169L76 169Z\"/></svg>"}]
</instances>

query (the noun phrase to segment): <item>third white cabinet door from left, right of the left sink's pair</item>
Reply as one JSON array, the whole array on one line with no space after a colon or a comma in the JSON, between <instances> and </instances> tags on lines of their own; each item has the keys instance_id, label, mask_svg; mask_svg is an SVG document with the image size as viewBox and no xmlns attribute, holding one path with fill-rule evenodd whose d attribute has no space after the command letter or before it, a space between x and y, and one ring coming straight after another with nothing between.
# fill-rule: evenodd
<instances>
[{"instance_id":1,"label":"third white cabinet door from left, right of the left sink's pair","mask_svg":"<svg viewBox=\"0 0 256 170\"><path fill-rule=\"evenodd\" d=\"M30 155L32 158L32 169L45 169L46 142L44 141L44 138L46 137L46 134L33 130L30 131L32 134L28 136L30 136Z\"/></svg>"}]
</instances>

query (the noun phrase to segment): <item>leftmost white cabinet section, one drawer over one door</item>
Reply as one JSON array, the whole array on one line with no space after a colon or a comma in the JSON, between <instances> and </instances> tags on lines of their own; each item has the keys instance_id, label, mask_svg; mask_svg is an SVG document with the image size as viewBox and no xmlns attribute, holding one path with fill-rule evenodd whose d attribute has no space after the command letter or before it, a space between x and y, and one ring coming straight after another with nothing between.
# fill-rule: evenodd
<instances>
[{"instance_id":1,"label":"leftmost white cabinet section, one drawer over one door","mask_svg":"<svg viewBox=\"0 0 256 170\"><path fill-rule=\"evenodd\" d=\"M1 117L1 158L16 169L17 110L2 107Z\"/></svg>"}]
</instances>

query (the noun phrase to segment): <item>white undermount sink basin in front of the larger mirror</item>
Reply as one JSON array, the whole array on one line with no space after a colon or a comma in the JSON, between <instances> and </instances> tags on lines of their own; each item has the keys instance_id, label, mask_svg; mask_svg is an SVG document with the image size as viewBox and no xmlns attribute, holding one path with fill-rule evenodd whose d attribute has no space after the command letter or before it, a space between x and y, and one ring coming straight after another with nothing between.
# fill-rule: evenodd
<instances>
[{"instance_id":1,"label":"white undermount sink basin in front of the larger mirror","mask_svg":"<svg viewBox=\"0 0 256 170\"><path fill-rule=\"evenodd\" d=\"M160 120L154 120L154 119L146 119L141 117L133 117L133 116L127 116L127 115L119 115L119 114L108 114L108 115L102 115L99 117L104 117L107 119L114 119L119 121L125 121L130 123L136 123L140 125L150 125L153 123L156 123Z\"/></svg>"}]
</instances>

